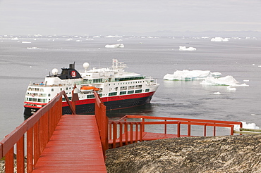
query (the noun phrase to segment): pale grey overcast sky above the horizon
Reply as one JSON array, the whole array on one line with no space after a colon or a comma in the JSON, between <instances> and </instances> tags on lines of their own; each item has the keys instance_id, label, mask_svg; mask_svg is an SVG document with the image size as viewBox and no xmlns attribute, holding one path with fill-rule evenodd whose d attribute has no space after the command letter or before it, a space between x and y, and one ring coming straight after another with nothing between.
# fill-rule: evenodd
<instances>
[{"instance_id":1,"label":"pale grey overcast sky above the horizon","mask_svg":"<svg viewBox=\"0 0 261 173\"><path fill-rule=\"evenodd\" d=\"M0 35L261 32L261 0L0 0Z\"/></svg>"}]
</instances>

